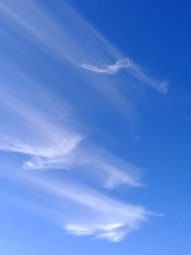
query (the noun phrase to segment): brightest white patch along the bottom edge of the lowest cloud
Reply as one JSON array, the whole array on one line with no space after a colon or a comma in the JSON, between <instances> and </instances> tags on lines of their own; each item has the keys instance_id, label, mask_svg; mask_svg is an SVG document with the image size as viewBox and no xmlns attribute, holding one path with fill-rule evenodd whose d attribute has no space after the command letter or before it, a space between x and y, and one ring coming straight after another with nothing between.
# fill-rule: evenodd
<instances>
[{"instance_id":1,"label":"brightest white patch along the bottom edge of the lowest cloud","mask_svg":"<svg viewBox=\"0 0 191 255\"><path fill-rule=\"evenodd\" d=\"M95 238L119 242L127 233L138 229L140 223L146 219L147 213L143 208L127 207L126 212L113 208L112 213L103 212L93 223L66 224L65 229L78 236L92 235Z\"/></svg>"}]
</instances>

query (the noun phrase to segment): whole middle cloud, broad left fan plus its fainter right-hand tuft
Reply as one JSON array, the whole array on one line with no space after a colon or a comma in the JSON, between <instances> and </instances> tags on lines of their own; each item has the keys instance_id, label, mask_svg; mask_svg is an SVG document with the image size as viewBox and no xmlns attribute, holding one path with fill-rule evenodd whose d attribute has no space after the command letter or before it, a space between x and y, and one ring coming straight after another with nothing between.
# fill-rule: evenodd
<instances>
[{"instance_id":1,"label":"whole middle cloud, broad left fan plus its fainter right-hand tuft","mask_svg":"<svg viewBox=\"0 0 191 255\"><path fill-rule=\"evenodd\" d=\"M24 169L83 169L90 177L93 175L101 181L105 188L121 184L141 186L140 169L88 142L88 136L75 130L76 122L69 124L67 119L59 120L59 113L56 115L51 108L46 112L43 100L40 103L35 98L34 101L33 93L37 88L46 98L46 104L54 105L58 101L41 85L19 74L14 81L2 79L2 84L0 104L8 117L0 128L0 149L27 155L29 160L23 163ZM15 91L10 90L13 86ZM68 118L69 110L65 109L65 112ZM87 141L84 143L84 140Z\"/></svg>"}]
</instances>

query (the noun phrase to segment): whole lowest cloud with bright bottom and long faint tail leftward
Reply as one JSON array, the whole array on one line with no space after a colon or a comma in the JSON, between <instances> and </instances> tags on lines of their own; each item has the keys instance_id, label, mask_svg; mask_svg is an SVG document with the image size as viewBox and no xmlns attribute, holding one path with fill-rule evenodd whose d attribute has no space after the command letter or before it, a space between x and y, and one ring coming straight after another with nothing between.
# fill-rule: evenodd
<instances>
[{"instance_id":1,"label":"whole lowest cloud with bright bottom and long faint tail leftward","mask_svg":"<svg viewBox=\"0 0 191 255\"><path fill-rule=\"evenodd\" d=\"M6 172L10 174L10 171ZM127 234L138 230L152 215L143 206L117 201L77 182L58 181L26 171L13 170L12 174L12 181L22 183L25 191L40 191L36 201L14 197L13 203L42 217L45 215L62 225L66 233L76 236L119 242Z\"/></svg>"}]
</instances>

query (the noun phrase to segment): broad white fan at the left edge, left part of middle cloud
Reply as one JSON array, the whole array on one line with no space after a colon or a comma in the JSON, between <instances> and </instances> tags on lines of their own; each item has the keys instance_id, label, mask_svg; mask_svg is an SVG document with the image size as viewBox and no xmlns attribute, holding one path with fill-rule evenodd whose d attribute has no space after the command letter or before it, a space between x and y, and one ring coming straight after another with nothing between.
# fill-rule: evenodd
<instances>
[{"instance_id":1,"label":"broad white fan at the left edge, left part of middle cloud","mask_svg":"<svg viewBox=\"0 0 191 255\"><path fill-rule=\"evenodd\" d=\"M33 87L29 80L19 75L15 82L4 80L1 82L0 110L2 116L7 116L6 122L2 122L0 127L1 150L50 159L67 155L83 139L78 132L67 127L67 120L62 119L63 126L60 127L61 122L55 114L53 116L54 112L51 113L51 109L49 113L44 110L43 100L36 105L36 98L33 101L33 93L37 85ZM25 91L21 90L22 86L25 86ZM17 91L10 90L11 87L17 88ZM38 90L41 90L40 86ZM42 91L51 104L49 94L43 89Z\"/></svg>"}]
</instances>

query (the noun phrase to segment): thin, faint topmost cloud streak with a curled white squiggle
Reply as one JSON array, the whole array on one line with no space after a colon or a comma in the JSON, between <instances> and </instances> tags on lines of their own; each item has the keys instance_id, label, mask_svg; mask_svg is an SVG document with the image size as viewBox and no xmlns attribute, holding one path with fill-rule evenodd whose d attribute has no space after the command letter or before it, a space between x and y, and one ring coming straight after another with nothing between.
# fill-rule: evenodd
<instances>
[{"instance_id":1,"label":"thin, faint topmost cloud streak with a curled white squiggle","mask_svg":"<svg viewBox=\"0 0 191 255\"><path fill-rule=\"evenodd\" d=\"M167 92L165 82L153 80L140 67L125 58L65 2L63 6L64 26L60 26L51 15L30 0L21 0L19 5L7 0L0 3L0 12L2 18L6 17L6 21L8 18L16 30L20 26L19 33L24 37L76 66L106 74L115 74L124 69L135 80L162 93ZM108 64L111 62L116 64Z\"/></svg>"}]
</instances>

